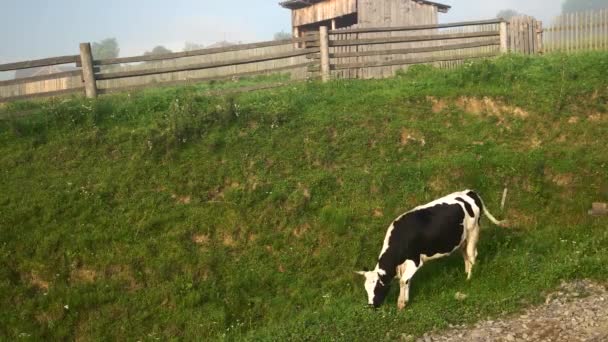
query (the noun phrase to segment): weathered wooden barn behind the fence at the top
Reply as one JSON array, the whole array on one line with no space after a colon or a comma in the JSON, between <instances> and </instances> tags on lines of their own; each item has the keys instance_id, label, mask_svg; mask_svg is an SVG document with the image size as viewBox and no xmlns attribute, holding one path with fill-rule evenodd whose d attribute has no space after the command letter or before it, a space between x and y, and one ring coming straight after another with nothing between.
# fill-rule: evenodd
<instances>
[{"instance_id":1,"label":"weathered wooden barn behind the fence at the top","mask_svg":"<svg viewBox=\"0 0 608 342\"><path fill-rule=\"evenodd\" d=\"M450 6L425 0L288 0L294 37L320 26L330 29L437 24Z\"/></svg>"}]
</instances>

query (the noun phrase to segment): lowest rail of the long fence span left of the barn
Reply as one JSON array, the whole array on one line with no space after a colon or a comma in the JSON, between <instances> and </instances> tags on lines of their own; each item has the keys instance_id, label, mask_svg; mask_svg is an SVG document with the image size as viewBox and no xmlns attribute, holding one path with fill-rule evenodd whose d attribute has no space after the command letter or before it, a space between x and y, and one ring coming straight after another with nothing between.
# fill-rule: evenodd
<instances>
[{"instance_id":1,"label":"lowest rail of the long fence span left of the barn","mask_svg":"<svg viewBox=\"0 0 608 342\"><path fill-rule=\"evenodd\" d=\"M255 70L255 71L247 71L247 72L234 73L234 74L230 74L230 75L210 76L210 77L198 77L198 78L187 78L185 80L163 81L163 82L147 83L147 84L140 84L140 85L134 85L134 86L101 88L101 89L99 89L99 91L101 93L103 93L103 94L107 94L107 93L110 93L110 92L121 92L121 91L130 91L130 90L155 88L155 87L171 87L171 86L177 86L177 85L192 85L192 84L197 84L197 83L202 83L202 82L209 82L209 81L223 81L223 80L230 80L230 79L234 79L234 78L238 79L238 78L246 77L246 76L256 76L256 75L280 73L281 71L288 71L288 70L306 68L306 67L315 66L315 65L318 66L318 64L308 62L308 63L289 65L289 66L280 67L280 68L260 69L260 70Z\"/></svg>"}]
</instances>

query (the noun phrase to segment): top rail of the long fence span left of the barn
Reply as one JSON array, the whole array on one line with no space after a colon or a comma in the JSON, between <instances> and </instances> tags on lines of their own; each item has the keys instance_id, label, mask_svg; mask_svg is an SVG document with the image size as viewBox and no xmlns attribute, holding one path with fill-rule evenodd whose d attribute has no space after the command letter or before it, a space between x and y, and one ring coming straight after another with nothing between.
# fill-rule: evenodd
<instances>
[{"instance_id":1,"label":"top rail of the long fence span left of the barn","mask_svg":"<svg viewBox=\"0 0 608 342\"><path fill-rule=\"evenodd\" d=\"M302 38L275 40L275 41L251 43L251 44L239 44L239 45L219 47L219 48L174 52L174 53L168 53L168 54L162 54L162 55L148 55L148 56L142 55L142 56L134 56L134 57L101 59L101 60L94 61L93 64L94 65L112 65L112 64L123 64L123 63L162 61L162 60L177 59L177 58L184 58L184 57L212 55L212 54L224 53L224 52L259 49L259 48L280 46L280 45L291 45L294 43L316 42L316 41L318 41L318 39L319 39L318 34L316 34L316 35L310 34L310 35L306 35L305 37L302 37ZM79 65L79 63L77 63L77 65Z\"/></svg>"}]
</instances>

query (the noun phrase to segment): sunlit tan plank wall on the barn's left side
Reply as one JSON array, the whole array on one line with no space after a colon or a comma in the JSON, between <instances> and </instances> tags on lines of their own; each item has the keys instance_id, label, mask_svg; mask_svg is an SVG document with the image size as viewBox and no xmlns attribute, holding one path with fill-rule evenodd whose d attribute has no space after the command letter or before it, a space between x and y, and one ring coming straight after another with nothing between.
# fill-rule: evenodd
<instances>
[{"instance_id":1,"label":"sunlit tan plank wall on the barn's left side","mask_svg":"<svg viewBox=\"0 0 608 342\"><path fill-rule=\"evenodd\" d=\"M357 0L329 0L292 11L294 27L338 18L357 12Z\"/></svg>"}]
</instances>

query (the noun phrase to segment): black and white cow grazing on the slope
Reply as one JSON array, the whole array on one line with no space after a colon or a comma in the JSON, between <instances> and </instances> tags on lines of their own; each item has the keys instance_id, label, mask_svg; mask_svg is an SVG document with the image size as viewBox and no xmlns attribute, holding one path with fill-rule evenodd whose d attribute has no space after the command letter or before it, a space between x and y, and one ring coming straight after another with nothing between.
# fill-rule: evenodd
<instances>
[{"instance_id":1,"label":"black and white cow grazing on the slope","mask_svg":"<svg viewBox=\"0 0 608 342\"><path fill-rule=\"evenodd\" d=\"M416 271L425 262L450 255L459 247L467 280L471 279L482 212L494 224L506 226L488 212L479 195L471 190L453 193L399 216L388 228L376 268L357 272L365 276L369 305L380 306L392 279L397 277L397 306L403 309Z\"/></svg>"}]
</instances>

